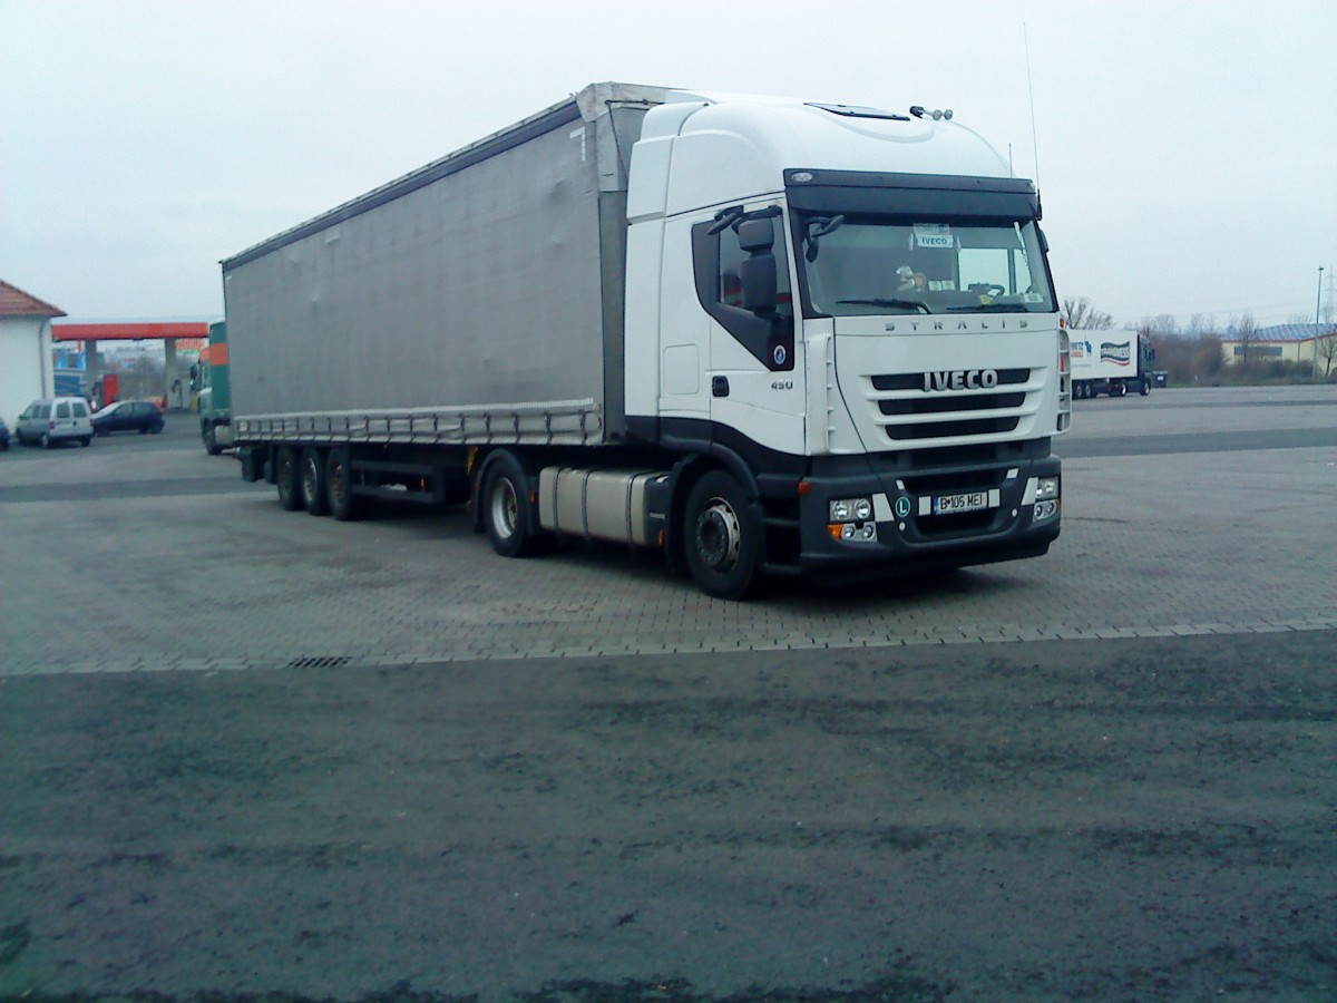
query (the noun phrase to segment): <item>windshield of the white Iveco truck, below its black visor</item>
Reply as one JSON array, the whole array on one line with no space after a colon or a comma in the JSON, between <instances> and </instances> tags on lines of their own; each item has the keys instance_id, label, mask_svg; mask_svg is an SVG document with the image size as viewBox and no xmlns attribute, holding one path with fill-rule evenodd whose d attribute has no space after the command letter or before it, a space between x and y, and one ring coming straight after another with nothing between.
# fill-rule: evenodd
<instances>
[{"instance_id":1,"label":"windshield of the white Iveco truck, below its black visor","mask_svg":"<svg viewBox=\"0 0 1337 1003\"><path fill-rule=\"evenodd\" d=\"M846 215L800 219L808 313L1050 313L1054 290L1031 221L969 225ZM816 241L809 237L816 234Z\"/></svg>"}]
</instances>

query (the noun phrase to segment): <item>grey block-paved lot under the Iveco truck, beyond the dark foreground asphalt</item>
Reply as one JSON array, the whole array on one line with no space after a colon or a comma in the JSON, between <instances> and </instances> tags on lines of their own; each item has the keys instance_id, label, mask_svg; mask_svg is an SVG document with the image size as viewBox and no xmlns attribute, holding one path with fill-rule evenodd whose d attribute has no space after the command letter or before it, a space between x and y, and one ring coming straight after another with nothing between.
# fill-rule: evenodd
<instances>
[{"instance_id":1,"label":"grey block-paved lot under the Iveco truck, beyond the dark foreground asphalt","mask_svg":"<svg viewBox=\"0 0 1337 1003\"><path fill-rule=\"evenodd\" d=\"M1138 401L1110 404L1130 411L1092 436L1124 415L1154 432ZM1337 631L1326 447L1070 459L1044 558L731 603L619 547L497 558L463 511L283 512L190 440L122 441L0 463L0 674ZM162 491L115 488L136 477Z\"/></svg>"}]
</instances>

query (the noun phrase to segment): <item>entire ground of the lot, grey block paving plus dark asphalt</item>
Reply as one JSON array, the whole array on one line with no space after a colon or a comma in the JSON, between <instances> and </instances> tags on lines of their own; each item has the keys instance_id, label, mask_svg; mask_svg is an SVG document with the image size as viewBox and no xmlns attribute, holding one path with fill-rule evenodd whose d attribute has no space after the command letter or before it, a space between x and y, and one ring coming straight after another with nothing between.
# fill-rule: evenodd
<instances>
[{"instance_id":1,"label":"entire ground of the lot, grey block paving plus dark asphalt","mask_svg":"<svg viewBox=\"0 0 1337 1003\"><path fill-rule=\"evenodd\" d=\"M757 604L180 427L0 457L3 998L1337 996L1326 388L1079 403L1050 556Z\"/></svg>"}]
</instances>

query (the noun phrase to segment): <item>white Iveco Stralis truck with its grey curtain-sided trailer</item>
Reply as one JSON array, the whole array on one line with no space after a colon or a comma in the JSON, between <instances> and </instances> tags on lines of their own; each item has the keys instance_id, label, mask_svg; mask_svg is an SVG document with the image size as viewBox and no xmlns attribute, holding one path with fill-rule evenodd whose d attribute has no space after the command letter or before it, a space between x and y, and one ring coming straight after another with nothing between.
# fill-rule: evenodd
<instances>
[{"instance_id":1,"label":"white Iveco Stralis truck with its grey curtain-sided trailer","mask_svg":"<svg viewBox=\"0 0 1337 1003\"><path fill-rule=\"evenodd\" d=\"M1071 411L1039 222L949 114L592 84L222 262L243 476L725 598L1036 556Z\"/></svg>"}]
</instances>

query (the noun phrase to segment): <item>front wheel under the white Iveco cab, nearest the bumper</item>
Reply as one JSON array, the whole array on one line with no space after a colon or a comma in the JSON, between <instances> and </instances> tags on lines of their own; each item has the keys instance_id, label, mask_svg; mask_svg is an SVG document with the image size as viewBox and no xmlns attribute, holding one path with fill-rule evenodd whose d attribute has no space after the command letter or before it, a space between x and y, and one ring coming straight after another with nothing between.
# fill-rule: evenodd
<instances>
[{"instance_id":1,"label":"front wheel under the white Iveco cab, nearest the bumper","mask_svg":"<svg viewBox=\"0 0 1337 1003\"><path fill-rule=\"evenodd\" d=\"M742 599L757 583L762 527L742 485L723 471L693 485L682 540L687 568L706 595Z\"/></svg>"}]
</instances>

